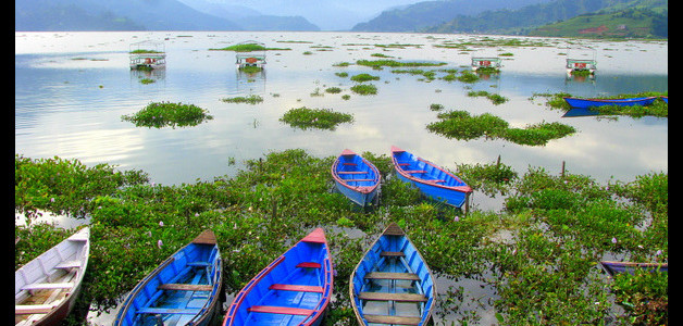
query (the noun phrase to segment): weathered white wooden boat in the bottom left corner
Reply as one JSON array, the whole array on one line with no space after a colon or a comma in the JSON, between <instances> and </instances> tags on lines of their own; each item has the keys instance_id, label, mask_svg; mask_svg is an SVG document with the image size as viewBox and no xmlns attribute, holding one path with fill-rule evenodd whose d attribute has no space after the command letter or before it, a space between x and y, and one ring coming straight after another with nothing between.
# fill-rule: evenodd
<instances>
[{"instance_id":1,"label":"weathered white wooden boat in the bottom left corner","mask_svg":"<svg viewBox=\"0 0 683 326\"><path fill-rule=\"evenodd\" d=\"M14 272L14 324L59 325L73 310L90 254L84 227Z\"/></svg>"}]
</instances>

